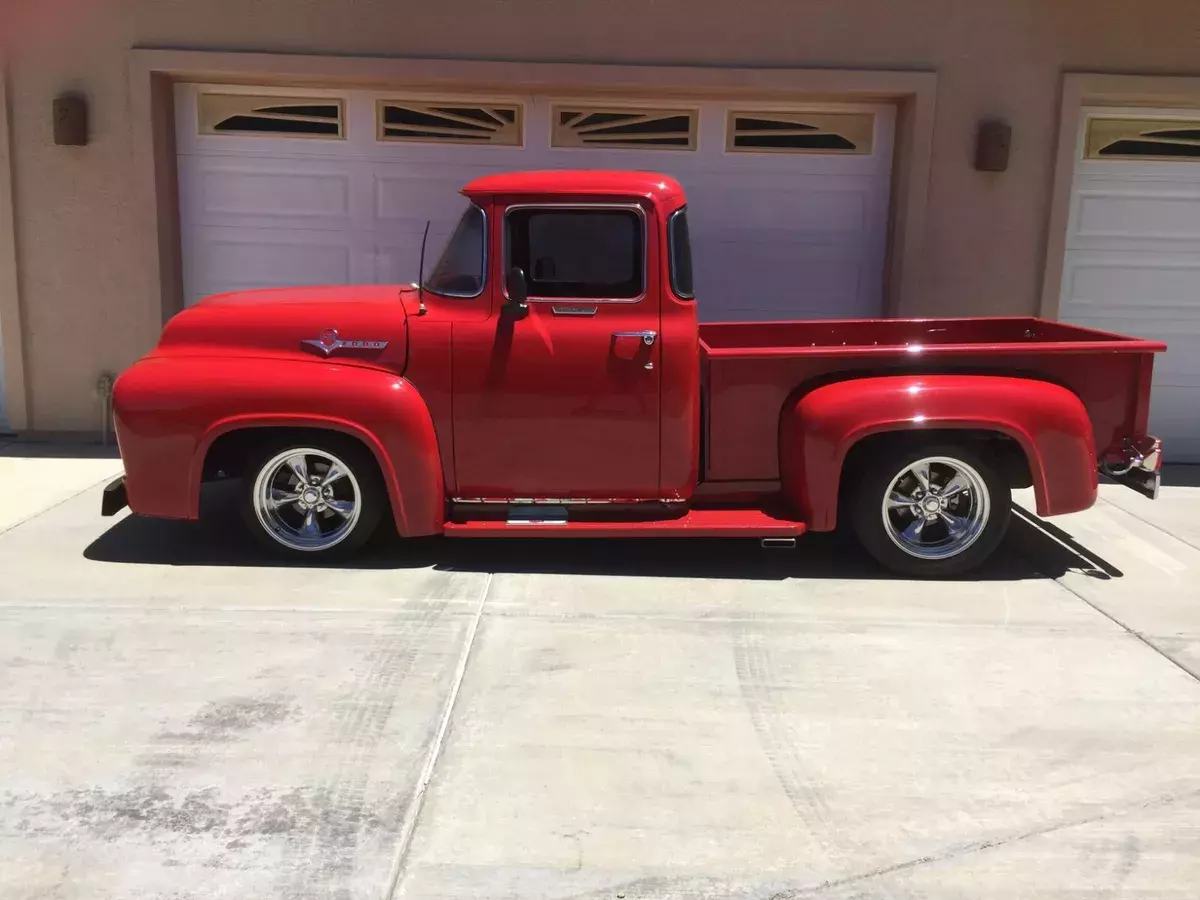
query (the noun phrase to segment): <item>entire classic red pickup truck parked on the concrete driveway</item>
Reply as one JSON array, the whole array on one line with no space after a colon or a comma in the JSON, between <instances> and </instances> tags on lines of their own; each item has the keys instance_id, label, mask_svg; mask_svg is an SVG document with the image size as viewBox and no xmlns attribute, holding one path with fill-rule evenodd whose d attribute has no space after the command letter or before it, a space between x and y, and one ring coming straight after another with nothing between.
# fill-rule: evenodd
<instances>
[{"instance_id":1,"label":"entire classic red pickup truck parked on the concrete driveway","mask_svg":"<svg viewBox=\"0 0 1200 900\"><path fill-rule=\"evenodd\" d=\"M848 526L954 575L1009 520L1157 493L1160 343L1033 318L700 324L686 199L631 172L481 178L424 284L254 290L116 382L103 512L196 518L236 476L306 557L402 536L754 536Z\"/></svg>"}]
</instances>

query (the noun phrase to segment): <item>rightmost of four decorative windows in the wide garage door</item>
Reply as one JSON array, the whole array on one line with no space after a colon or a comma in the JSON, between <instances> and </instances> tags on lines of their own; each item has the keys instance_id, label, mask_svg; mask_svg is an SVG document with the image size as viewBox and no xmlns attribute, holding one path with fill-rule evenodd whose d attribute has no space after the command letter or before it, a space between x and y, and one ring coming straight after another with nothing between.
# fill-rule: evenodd
<instances>
[{"instance_id":1,"label":"rightmost of four decorative windows in the wide garage door","mask_svg":"<svg viewBox=\"0 0 1200 900\"><path fill-rule=\"evenodd\" d=\"M776 154L859 154L874 148L870 113L767 113L731 110L725 149Z\"/></svg>"}]
</instances>

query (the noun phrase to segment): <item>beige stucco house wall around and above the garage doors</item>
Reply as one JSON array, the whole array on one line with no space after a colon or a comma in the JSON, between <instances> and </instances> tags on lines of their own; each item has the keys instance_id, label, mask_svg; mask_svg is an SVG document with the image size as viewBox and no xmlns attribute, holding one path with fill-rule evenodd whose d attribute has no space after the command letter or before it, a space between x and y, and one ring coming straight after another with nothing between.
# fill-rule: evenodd
<instances>
[{"instance_id":1,"label":"beige stucco house wall around and above the garage doors","mask_svg":"<svg viewBox=\"0 0 1200 900\"><path fill-rule=\"evenodd\" d=\"M25 425L38 431L97 428L97 374L161 326L155 222L133 168L134 46L936 71L922 290L904 314L1037 308L1063 71L1200 74L1196 0L5 0L0 16ZM90 100L86 148L53 145L65 90ZM1014 127L998 175L971 168L976 122L991 115Z\"/></svg>"}]
</instances>

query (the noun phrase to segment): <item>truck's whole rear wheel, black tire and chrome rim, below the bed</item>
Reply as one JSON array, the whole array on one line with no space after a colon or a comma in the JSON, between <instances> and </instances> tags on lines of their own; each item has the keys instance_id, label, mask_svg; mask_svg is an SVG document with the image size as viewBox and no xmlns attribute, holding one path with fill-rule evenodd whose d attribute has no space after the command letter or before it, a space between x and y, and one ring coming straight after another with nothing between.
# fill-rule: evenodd
<instances>
[{"instance_id":1,"label":"truck's whole rear wheel, black tire and chrome rim, below the bed","mask_svg":"<svg viewBox=\"0 0 1200 900\"><path fill-rule=\"evenodd\" d=\"M854 533L894 572L964 575L992 554L1012 514L1008 481L973 449L910 448L864 473L852 500Z\"/></svg>"}]
</instances>

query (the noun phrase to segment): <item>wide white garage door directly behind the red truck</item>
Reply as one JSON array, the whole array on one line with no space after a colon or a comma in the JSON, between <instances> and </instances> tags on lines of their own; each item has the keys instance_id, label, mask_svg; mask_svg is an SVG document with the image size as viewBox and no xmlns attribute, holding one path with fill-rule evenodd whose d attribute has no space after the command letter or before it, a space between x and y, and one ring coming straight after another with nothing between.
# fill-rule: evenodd
<instances>
[{"instance_id":1,"label":"wide white garage door directly behind the red truck","mask_svg":"<svg viewBox=\"0 0 1200 900\"><path fill-rule=\"evenodd\" d=\"M688 191L703 318L882 307L887 106L180 85L176 110L188 304L265 286L413 282L426 220L433 257L470 179L623 168Z\"/></svg>"}]
</instances>

